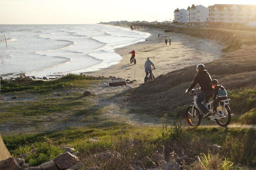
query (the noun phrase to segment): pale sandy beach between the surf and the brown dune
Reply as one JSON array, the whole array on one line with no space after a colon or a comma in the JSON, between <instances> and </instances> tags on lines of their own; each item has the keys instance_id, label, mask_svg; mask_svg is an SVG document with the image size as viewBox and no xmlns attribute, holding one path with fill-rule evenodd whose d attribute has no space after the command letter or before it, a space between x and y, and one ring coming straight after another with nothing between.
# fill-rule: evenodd
<instances>
[{"instance_id":1,"label":"pale sandy beach between the surf and the brown dune","mask_svg":"<svg viewBox=\"0 0 256 170\"><path fill-rule=\"evenodd\" d=\"M162 29L141 28L139 31L149 32L151 36L144 42L116 49L115 52L123 58L120 63L84 74L137 80L132 84L132 87L136 87L144 83L144 64L147 57L150 57L155 64L156 69L153 70L153 74L155 77L158 77L161 74L166 74L186 66L198 63L205 64L224 54L221 52L221 49L224 47L213 40L200 39L175 32L164 32ZM158 38L159 31L161 31L161 35ZM168 38L167 45L165 45L166 37ZM169 37L171 37L171 45L169 45ZM136 51L136 64L130 63L131 54L129 52L133 48Z\"/></svg>"}]
</instances>

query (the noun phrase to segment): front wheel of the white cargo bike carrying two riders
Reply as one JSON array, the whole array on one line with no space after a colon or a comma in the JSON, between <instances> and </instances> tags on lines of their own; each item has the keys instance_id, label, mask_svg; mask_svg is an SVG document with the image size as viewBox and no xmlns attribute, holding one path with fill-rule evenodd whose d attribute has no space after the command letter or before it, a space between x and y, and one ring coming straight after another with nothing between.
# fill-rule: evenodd
<instances>
[{"instance_id":1,"label":"front wheel of the white cargo bike carrying two riders","mask_svg":"<svg viewBox=\"0 0 256 170\"><path fill-rule=\"evenodd\" d=\"M190 126L199 126L201 123L201 116L199 110L193 105L189 106L186 110L186 119ZM192 114L193 113L193 114Z\"/></svg>"}]
</instances>

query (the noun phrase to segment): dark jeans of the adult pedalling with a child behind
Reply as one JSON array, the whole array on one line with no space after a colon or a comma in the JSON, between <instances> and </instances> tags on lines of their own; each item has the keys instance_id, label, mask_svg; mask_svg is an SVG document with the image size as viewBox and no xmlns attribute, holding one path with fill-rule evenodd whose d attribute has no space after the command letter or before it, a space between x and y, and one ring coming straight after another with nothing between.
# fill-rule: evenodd
<instances>
[{"instance_id":1,"label":"dark jeans of the adult pedalling with a child behind","mask_svg":"<svg viewBox=\"0 0 256 170\"><path fill-rule=\"evenodd\" d=\"M203 113L207 113L209 111L208 108L205 107L205 105L202 103L203 99L205 99L205 103L208 103L210 98L213 96L213 90L212 91L202 91L197 95L197 106L200 108L200 110Z\"/></svg>"}]
</instances>

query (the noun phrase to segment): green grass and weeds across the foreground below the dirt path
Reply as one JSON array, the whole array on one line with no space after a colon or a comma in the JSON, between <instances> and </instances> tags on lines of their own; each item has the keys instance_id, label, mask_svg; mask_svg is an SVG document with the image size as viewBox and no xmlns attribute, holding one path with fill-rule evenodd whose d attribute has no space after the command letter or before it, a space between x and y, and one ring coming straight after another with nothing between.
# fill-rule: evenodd
<instances>
[{"instance_id":1,"label":"green grass and weeds across the foreground below the dirt path","mask_svg":"<svg viewBox=\"0 0 256 170\"><path fill-rule=\"evenodd\" d=\"M93 137L99 139L99 142L88 142ZM80 153L82 162L87 168L89 165L98 165L101 168L110 169L112 166L127 166L128 163L132 164L138 160L142 161L144 166L149 168L153 163L145 159L146 156L157 164L159 160L153 159L153 155L157 150L161 153L161 146L165 148L164 153L166 157L173 151L177 156L186 154L191 158L195 156L202 157L199 162L194 163L207 166L209 169L215 169L213 167L227 169L227 167L233 166L232 162L235 162L234 166L256 166L254 161L256 157L256 131L249 128L184 128L179 125L167 125L164 128L112 126L100 129L83 127L41 134L4 136L3 140L13 156L30 152L32 147L43 147L44 150L40 152L48 153L46 150L49 147L57 149L68 145L69 147L74 147ZM131 140L133 147L129 147ZM215 150L212 147L213 144L218 144L222 149L219 151ZM91 154L107 150L117 151L128 162L125 162L123 159L123 161L115 160L110 165L105 164L108 162L106 159L96 160L89 157ZM137 153L137 155L132 157L133 153ZM39 154L39 151L37 154ZM51 155L50 153L47 154L49 160L52 159ZM38 158L37 160L36 156L29 156L28 158L31 157L33 161L32 159L26 160L40 162L42 159ZM43 160L47 161L46 159ZM110 162L111 160L109 160ZM191 164L187 169L193 169L192 167L197 166Z\"/></svg>"}]
</instances>

